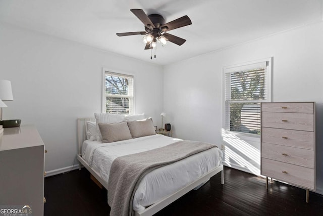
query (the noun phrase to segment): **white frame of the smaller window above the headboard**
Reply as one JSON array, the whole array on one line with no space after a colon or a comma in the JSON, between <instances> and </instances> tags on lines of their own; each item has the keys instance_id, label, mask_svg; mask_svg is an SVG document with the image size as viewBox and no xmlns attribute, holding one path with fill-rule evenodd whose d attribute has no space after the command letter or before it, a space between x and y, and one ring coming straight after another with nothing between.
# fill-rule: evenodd
<instances>
[{"instance_id":1,"label":"white frame of the smaller window above the headboard","mask_svg":"<svg viewBox=\"0 0 323 216\"><path fill-rule=\"evenodd\" d=\"M133 101L133 109L132 109L132 112L129 112L129 114L134 114L136 113L135 112L135 86L136 86L136 81L135 81L135 75L132 74L132 73L128 73L128 72L124 72L124 71L118 71L118 70L114 70L114 69L109 69L109 68L102 68L102 86L101 86L101 89L102 89L102 113L106 113L106 107L105 107L105 73L108 72L108 73L112 73L112 74L120 74L120 76L132 76L133 78L133 96L132 96L132 101Z\"/></svg>"}]
</instances>

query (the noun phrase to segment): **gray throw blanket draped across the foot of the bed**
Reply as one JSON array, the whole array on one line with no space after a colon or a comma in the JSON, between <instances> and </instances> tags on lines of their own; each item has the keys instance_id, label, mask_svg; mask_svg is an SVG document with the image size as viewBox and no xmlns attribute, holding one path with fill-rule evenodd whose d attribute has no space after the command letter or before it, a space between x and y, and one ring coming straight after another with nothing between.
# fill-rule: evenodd
<instances>
[{"instance_id":1,"label":"gray throw blanket draped across the foot of the bed","mask_svg":"<svg viewBox=\"0 0 323 216\"><path fill-rule=\"evenodd\" d=\"M217 146L184 140L165 147L116 158L110 169L107 187L110 215L133 215L132 201L135 191L148 172L213 147Z\"/></svg>"}]
</instances>

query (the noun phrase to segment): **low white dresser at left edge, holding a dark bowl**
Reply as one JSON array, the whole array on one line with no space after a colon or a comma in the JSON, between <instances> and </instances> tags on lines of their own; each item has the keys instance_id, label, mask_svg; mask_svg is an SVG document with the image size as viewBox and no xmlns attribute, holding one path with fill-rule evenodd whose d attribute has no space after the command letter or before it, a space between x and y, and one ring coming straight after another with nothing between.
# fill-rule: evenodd
<instances>
[{"instance_id":1,"label":"low white dresser at left edge, holding a dark bowl","mask_svg":"<svg viewBox=\"0 0 323 216\"><path fill-rule=\"evenodd\" d=\"M32 125L0 135L0 205L28 205L44 212L44 143Z\"/></svg>"}]
</instances>

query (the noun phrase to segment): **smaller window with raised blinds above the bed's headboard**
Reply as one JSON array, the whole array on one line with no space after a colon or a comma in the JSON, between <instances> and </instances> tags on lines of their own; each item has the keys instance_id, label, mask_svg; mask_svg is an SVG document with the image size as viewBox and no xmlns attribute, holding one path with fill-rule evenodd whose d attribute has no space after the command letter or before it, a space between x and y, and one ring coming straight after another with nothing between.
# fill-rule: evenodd
<instances>
[{"instance_id":1,"label":"smaller window with raised blinds above the bed's headboard","mask_svg":"<svg viewBox=\"0 0 323 216\"><path fill-rule=\"evenodd\" d=\"M104 71L103 112L133 114L133 76Z\"/></svg>"}]
</instances>

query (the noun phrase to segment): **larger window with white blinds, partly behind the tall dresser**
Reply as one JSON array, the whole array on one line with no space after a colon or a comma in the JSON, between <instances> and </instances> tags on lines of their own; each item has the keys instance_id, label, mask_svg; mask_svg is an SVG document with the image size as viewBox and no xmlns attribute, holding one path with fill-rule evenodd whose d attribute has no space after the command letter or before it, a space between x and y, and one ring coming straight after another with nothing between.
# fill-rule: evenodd
<instances>
[{"instance_id":1,"label":"larger window with white blinds, partly behind the tall dresser","mask_svg":"<svg viewBox=\"0 0 323 216\"><path fill-rule=\"evenodd\" d=\"M271 58L224 68L226 132L260 135L260 102L271 99Z\"/></svg>"}]
</instances>

